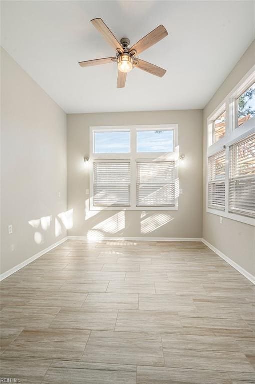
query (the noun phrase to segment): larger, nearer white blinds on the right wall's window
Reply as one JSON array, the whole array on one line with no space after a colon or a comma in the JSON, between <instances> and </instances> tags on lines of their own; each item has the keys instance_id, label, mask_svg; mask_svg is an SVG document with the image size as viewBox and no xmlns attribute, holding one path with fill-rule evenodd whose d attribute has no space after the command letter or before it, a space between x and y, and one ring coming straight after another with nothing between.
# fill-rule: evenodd
<instances>
[{"instance_id":1,"label":"larger, nearer white blinds on the right wall's window","mask_svg":"<svg viewBox=\"0 0 255 384\"><path fill-rule=\"evenodd\" d=\"M255 217L255 134L229 147L229 212Z\"/></svg>"}]
</instances>

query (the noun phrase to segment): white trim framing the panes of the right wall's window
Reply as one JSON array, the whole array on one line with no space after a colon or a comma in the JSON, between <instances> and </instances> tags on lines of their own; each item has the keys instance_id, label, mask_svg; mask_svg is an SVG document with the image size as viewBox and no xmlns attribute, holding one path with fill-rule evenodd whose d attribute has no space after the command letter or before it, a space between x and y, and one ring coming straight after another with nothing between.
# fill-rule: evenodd
<instances>
[{"instance_id":1,"label":"white trim framing the panes of the right wall's window","mask_svg":"<svg viewBox=\"0 0 255 384\"><path fill-rule=\"evenodd\" d=\"M255 219L228 212L228 189L229 189L229 146L255 132L255 116L244 124L237 127L236 102L237 98L255 81L255 65L231 90L225 99L207 118L207 150L206 150L206 211L217 216L226 217L235 221L255 226ZM211 144L211 124L219 112L226 108L226 133L217 142ZM211 209L208 207L208 158L222 149L226 149L225 166L225 210Z\"/></svg>"}]
</instances>

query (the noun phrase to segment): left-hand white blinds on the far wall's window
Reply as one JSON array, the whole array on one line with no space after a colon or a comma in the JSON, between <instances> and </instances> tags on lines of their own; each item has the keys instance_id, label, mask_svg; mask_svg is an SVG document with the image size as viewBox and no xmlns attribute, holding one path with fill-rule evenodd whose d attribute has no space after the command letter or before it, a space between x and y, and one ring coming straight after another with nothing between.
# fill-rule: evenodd
<instances>
[{"instance_id":1,"label":"left-hand white blinds on the far wall's window","mask_svg":"<svg viewBox=\"0 0 255 384\"><path fill-rule=\"evenodd\" d=\"M130 162L94 162L94 206L130 205Z\"/></svg>"}]
</instances>

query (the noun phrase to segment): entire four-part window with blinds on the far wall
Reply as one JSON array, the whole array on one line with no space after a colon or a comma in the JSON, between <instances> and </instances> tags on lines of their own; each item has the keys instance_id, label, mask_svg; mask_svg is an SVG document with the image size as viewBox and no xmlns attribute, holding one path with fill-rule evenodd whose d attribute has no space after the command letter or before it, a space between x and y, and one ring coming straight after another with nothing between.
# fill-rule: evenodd
<instances>
[{"instance_id":1,"label":"entire four-part window with blinds on the far wall","mask_svg":"<svg viewBox=\"0 0 255 384\"><path fill-rule=\"evenodd\" d=\"M177 140L177 125L91 127L90 209L177 210Z\"/></svg>"}]
</instances>

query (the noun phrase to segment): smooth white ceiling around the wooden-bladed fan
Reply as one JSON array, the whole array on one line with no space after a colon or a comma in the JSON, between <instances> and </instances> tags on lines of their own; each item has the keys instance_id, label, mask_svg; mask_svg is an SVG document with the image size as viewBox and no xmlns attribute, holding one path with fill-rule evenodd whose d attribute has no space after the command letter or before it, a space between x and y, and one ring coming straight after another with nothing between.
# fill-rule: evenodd
<instances>
[{"instance_id":1,"label":"smooth white ceiling around the wooden-bladed fan","mask_svg":"<svg viewBox=\"0 0 255 384\"><path fill-rule=\"evenodd\" d=\"M141 53L167 69L134 69L116 88L114 55L90 23L101 17L131 44L160 24L169 35ZM253 1L2 1L1 45L67 113L203 108L254 38Z\"/></svg>"}]
</instances>

